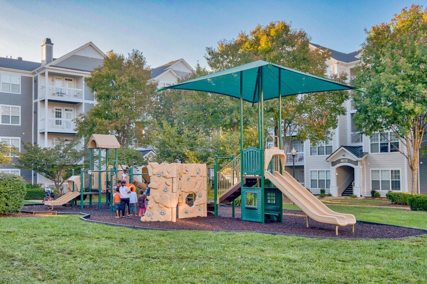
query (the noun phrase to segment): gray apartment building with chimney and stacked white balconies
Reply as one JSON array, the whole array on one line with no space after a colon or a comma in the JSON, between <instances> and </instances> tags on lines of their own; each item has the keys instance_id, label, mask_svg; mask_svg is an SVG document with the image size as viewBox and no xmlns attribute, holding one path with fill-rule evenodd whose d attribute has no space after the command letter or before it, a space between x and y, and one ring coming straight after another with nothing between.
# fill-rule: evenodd
<instances>
[{"instance_id":1,"label":"gray apartment building with chimney and stacked white balconies","mask_svg":"<svg viewBox=\"0 0 427 284\"><path fill-rule=\"evenodd\" d=\"M74 118L95 103L84 79L102 66L104 56L89 42L54 58L53 43L46 38L40 62L0 57L1 141L21 150L24 142L53 147L59 139L76 138ZM12 165L0 165L0 172L21 175L30 183L53 184Z\"/></svg>"}]
</instances>

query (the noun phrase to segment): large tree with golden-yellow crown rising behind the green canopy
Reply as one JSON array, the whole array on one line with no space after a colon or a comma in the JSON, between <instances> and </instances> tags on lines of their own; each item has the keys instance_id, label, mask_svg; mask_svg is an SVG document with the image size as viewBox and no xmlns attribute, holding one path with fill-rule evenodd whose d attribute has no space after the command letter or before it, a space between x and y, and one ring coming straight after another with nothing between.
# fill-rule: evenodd
<instances>
[{"instance_id":1,"label":"large tree with golden-yellow crown rising behind the green canopy","mask_svg":"<svg viewBox=\"0 0 427 284\"><path fill-rule=\"evenodd\" d=\"M214 71L262 59L325 77L326 60L330 57L330 53L318 48L310 49L309 43L310 37L304 30L292 29L290 24L277 21L267 26L258 25L249 34L241 32L235 40L219 41L216 48L207 49L206 60ZM346 74L340 74L330 79L343 82L347 78ZM292 139L328 140L337 126L338 115L345 113L342 103L347 98L346 91L283 97L281 127L287 134L288 148ZM234 102L231 104L234 115L230 117L238 123L239 102L231 98L228 100ZM272 127L275 129L275 135L278 135L277 100L265 102L264 107L265 133ZM254 125L256 124L252 126ZM283 143L285 144L285 141Z\"/></svg>"}]
</instances>

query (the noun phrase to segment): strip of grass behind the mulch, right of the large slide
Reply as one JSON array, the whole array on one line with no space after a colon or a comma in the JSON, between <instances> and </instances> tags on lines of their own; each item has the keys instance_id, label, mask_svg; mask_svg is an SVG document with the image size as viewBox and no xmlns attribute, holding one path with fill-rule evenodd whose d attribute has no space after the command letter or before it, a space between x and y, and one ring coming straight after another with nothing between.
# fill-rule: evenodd
<instances>
[{"instance_id":1,"label":"strip of grass behind the mulch, right of the large slide","mask_svg":"<svg viewBox=\"0 0 427 284\"><path fill-rule=\"evenodd\" d=\"M296 205L283 204L284 209L300 210ZM328 205L340 213L353 214L357 220L427 229L427 213L391 207L362 207Z\"/></svg>"}]
</instances>

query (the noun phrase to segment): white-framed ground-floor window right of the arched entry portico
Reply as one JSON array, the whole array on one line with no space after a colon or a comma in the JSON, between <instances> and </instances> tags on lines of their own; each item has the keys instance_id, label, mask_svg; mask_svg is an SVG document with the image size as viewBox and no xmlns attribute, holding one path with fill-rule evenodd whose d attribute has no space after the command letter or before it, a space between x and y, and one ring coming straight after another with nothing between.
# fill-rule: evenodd
<instances>
[{"instance_id":1,"label":"white-framed ground-floor window right of the arched entry portico","mask_svg":"<svg viewBox=\"0 0 427 284\"><path fill-rule=\"evenodd\" d=\"M371 170L371 189L374 190L401 190L401 177L399 169L373 169Z\"/></svg>"}]
</instances>

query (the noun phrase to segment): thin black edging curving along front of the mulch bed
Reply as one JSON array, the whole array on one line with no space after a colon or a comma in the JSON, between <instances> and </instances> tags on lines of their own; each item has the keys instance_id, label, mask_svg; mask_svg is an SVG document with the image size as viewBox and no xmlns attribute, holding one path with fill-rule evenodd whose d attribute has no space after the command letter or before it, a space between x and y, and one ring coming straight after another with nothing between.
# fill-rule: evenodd
<instances>
[{"instance_id":1,"label":"thin black edging curving along front of the mulch bed","mask_svg":"<svg viewBox=\"0 0 427 284\"><path fill-rule=\"evenodd\" d=\"M159 230L159 231L199 231L199 232L252 232L252 233L261 233L261 234L269 234L269 235L286 235L286 236L296 236L296 237L304 237L304 238L322 238L322 239L339 239L339 240L400 240L404 238L414 238L414 237L420 237L427 234L426 229L418 229L418 228L411 228L411 227L404 227L404 226L398 226L398 225L390 225L390 224L382 224L382 223L375 223L375 222L369 222L369 221L360 221L357 220L359 223L365 223L365 224L373 224L373 225L386 225L386 226L394 226L394 227L402 227L402 228L408 228L408 229L417 229L422 230L426 232L423 235L413 235L408 237L401 237L401 238L337 238L337 237L321 237L321 236L309 236L309 235L294 235L294 234L287 234L287 233L279 233L279 232L265 232L265 231L246 231L246 230L180 230L180 229L161 229L161 228L152 228L152 227L140 227L140 226L132 226L132 225L124 225L124 224L116 224L116 223L109 223L109 222L103 222L103 221L95 221L91 220L91 214L86 213L71 213L71 214L84 214L84 216L80 216L80 220L86 221L86 222L92 222L92 223L99 223L104 224L108 226L114 226L114 227L125 227L129 229L142 229L142 230Z\"/></svg>"}]
</instances>

